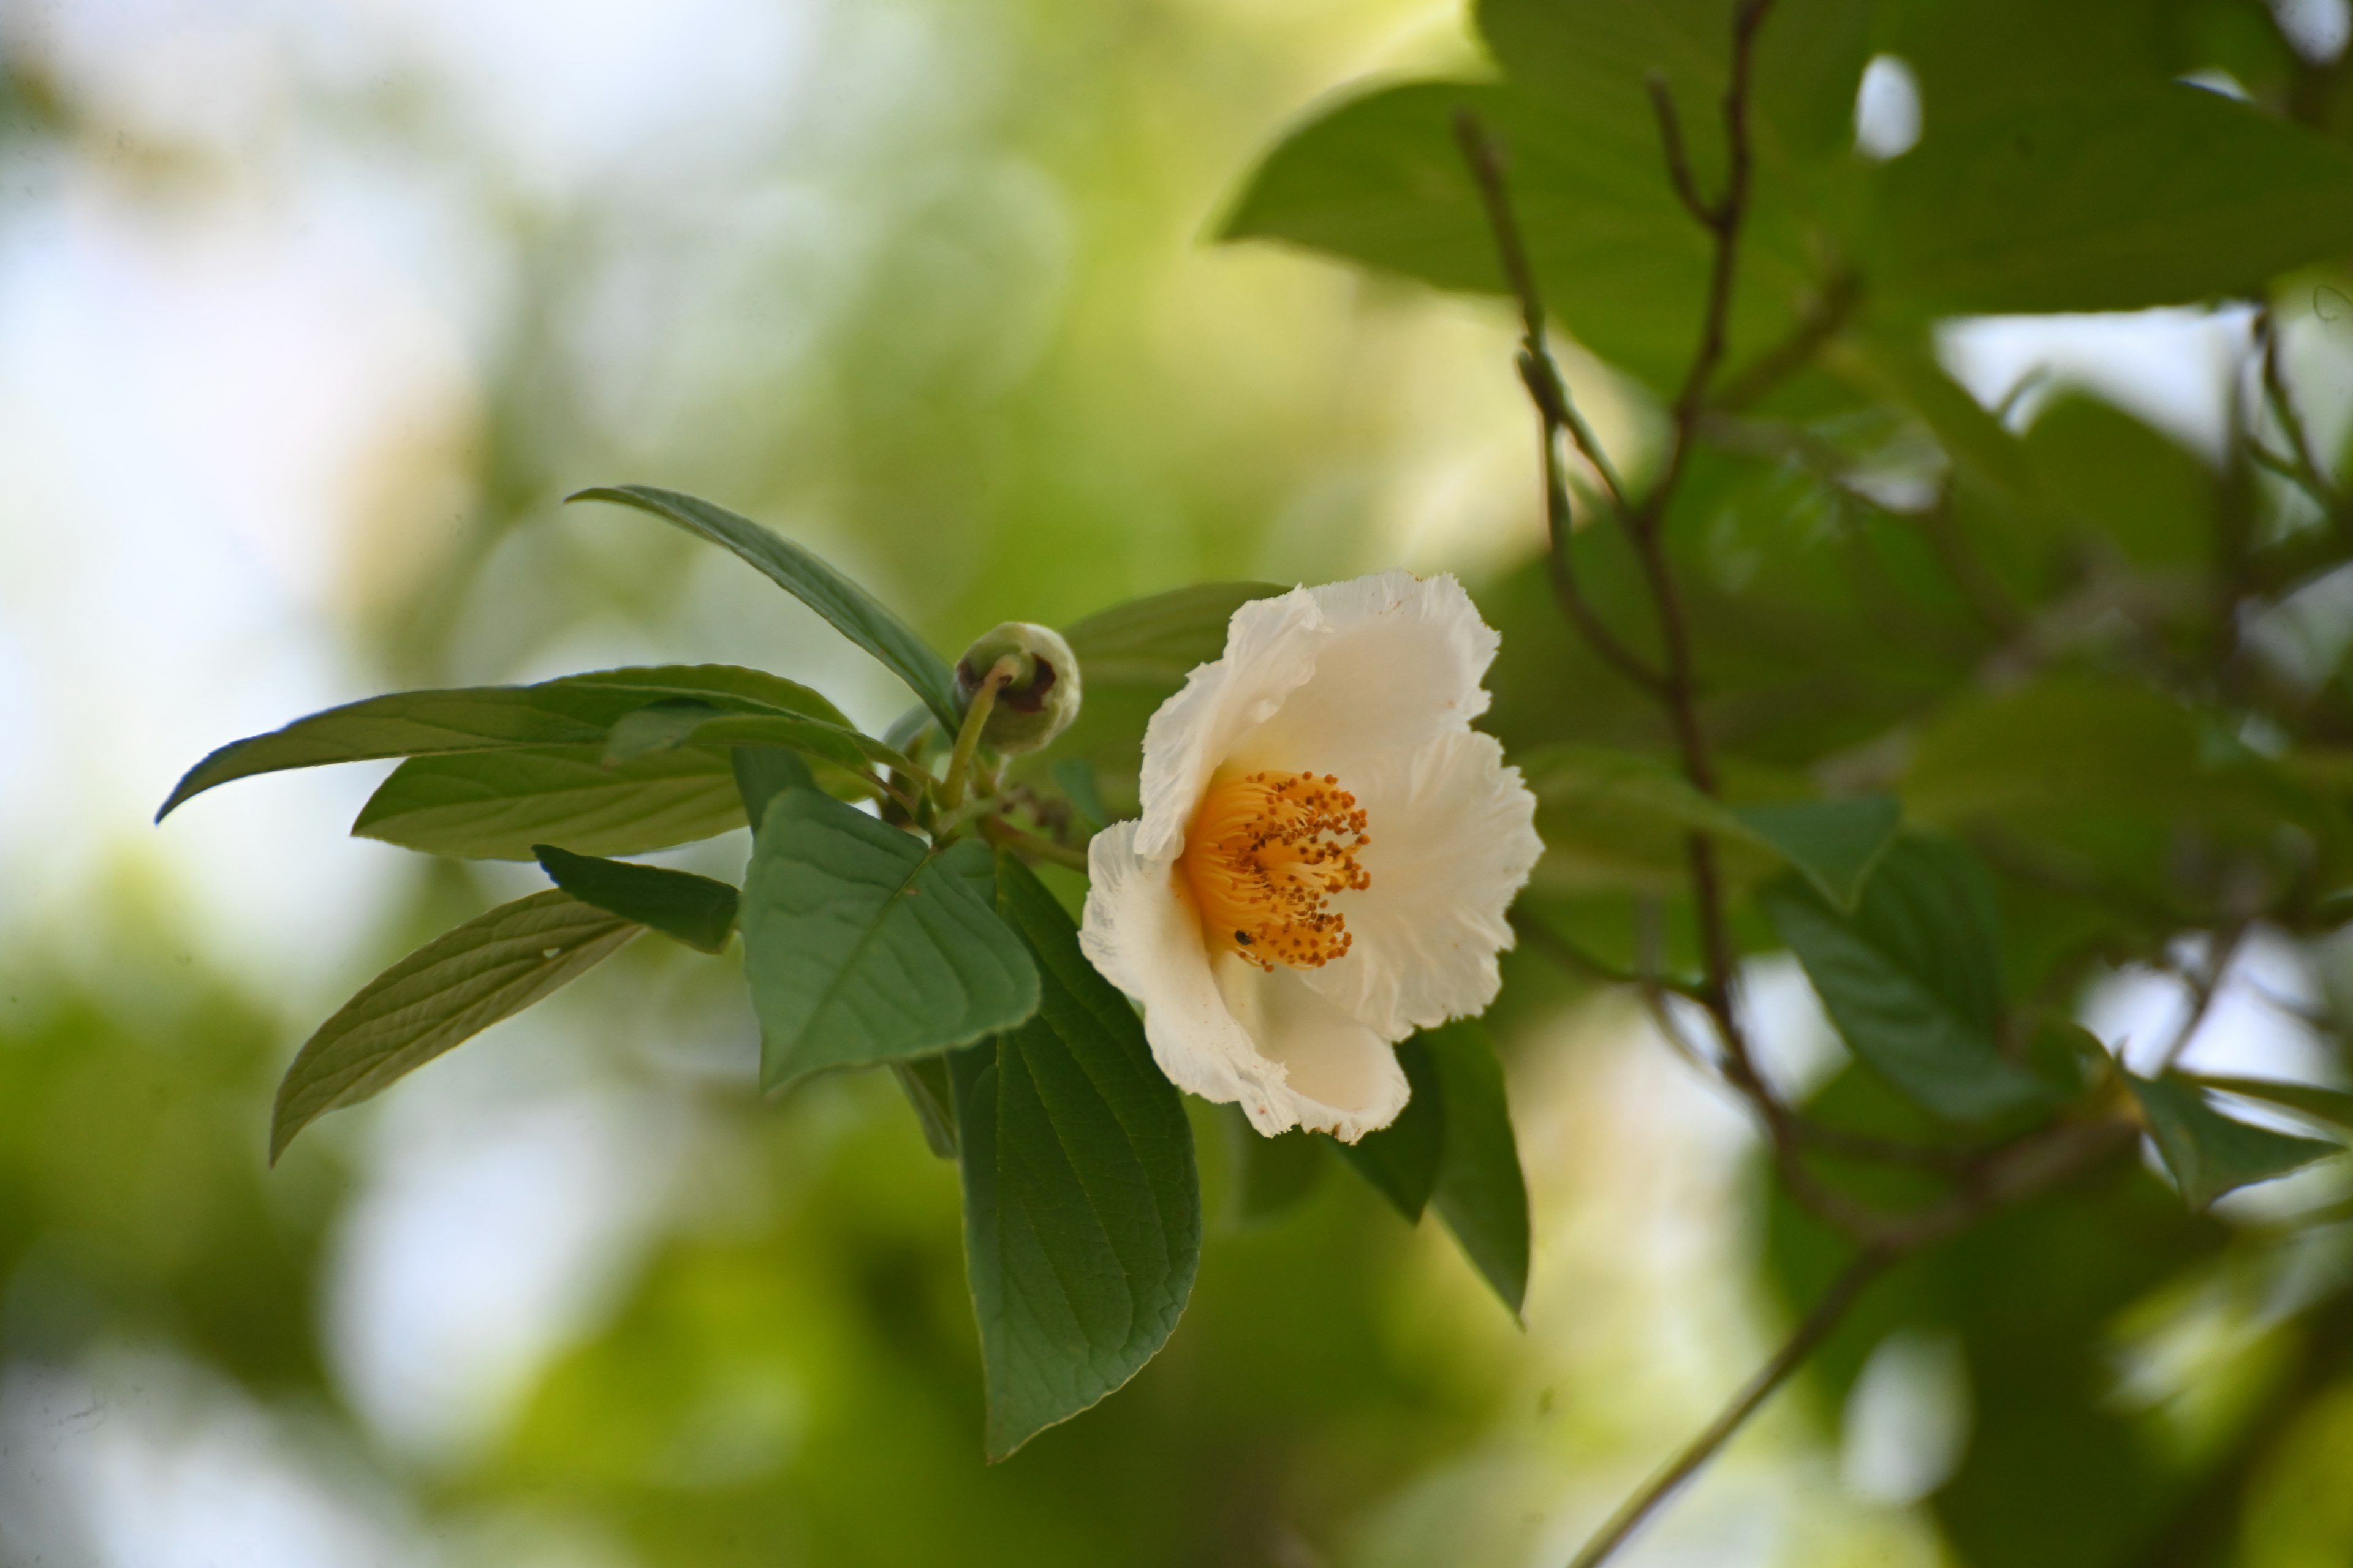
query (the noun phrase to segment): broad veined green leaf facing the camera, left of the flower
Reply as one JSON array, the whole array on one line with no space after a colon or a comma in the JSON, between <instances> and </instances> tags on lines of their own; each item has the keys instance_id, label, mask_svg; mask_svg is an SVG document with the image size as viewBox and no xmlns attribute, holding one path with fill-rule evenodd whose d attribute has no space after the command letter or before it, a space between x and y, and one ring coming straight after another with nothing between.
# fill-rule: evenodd
<instances>
[{"instance_id":1,"label":"broad veined green leaf facing the camera, left of the flower","mask_svg":"<svg viewBox=\"0 0 2353 1568\"><path fill-rule=\"evenodd\" d=\"M741 926L762 1088L934 1056L1038 1009L1028 952L953 865L816 790L767 804Z\"/></svg>"}]
</instances>

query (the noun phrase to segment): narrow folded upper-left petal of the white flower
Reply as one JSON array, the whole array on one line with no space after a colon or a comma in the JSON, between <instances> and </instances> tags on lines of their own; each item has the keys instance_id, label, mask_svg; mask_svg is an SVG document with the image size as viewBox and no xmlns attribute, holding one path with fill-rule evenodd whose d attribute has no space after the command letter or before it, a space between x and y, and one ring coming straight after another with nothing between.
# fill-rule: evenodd
<instances>
[{"instance_id":1,"label":"narrow folded upper-left petal of the white flower","mask_svg":"<svg viewBox=\"0 0 2353 1568\"><path fill-rule=\"evenodd\" d=\"M1160 703L1144 729L1141 856L1176 858L1200 792L1235 738L1264 724L1315 675L1315 651L1329 639L1332 625L1306 588L1233 611L1224 658L1193 670L1184 691Z\"/></svg>"}]
</instances>

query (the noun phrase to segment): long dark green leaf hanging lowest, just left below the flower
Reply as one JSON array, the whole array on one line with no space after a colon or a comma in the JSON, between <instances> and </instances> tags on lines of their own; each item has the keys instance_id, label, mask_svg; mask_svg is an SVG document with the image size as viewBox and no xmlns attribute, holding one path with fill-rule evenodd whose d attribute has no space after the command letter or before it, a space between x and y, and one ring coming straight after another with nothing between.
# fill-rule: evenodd
<instances>
[{"instance_id":1,"label":"long dark green leaf hanging lowest, just left below the flower","mask_svg":"<svg viewBox=\"0 0 2353 1568\"><path fill-rule=\"evenodd\" d=\"M1009 856L998 910L1038 959L1042 1001L962 1103L991 1460L1134 1378L1176 1328L1200 1262L1193 1131L1134 1009Z\"/></svg>"}]
</instances>

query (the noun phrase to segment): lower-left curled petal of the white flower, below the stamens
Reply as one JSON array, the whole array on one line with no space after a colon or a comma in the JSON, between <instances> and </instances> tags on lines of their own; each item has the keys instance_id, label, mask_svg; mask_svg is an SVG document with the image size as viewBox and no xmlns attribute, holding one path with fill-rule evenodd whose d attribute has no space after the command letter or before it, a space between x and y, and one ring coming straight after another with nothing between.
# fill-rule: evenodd
<instances>
[{"instance_id":1,"label":"lower-left curled petal of the white flower, below the stamens","mask_svg":"<svg viewBox=\"0 0 2353 1568\"><path fill-rule=\"evenodd\" d=\"M1134 823L1094 835L1078 945L1144 1004L1160 1072L1205 1100L1238 1100L1266 1135L1311 1126L1355 1143L1388 1126L1409 1093L1388 1041L1297 971L1268 976L1231 954L1212 964L1174 870L1136 856L1134 842Z\"/></svg>"}]
</instances>

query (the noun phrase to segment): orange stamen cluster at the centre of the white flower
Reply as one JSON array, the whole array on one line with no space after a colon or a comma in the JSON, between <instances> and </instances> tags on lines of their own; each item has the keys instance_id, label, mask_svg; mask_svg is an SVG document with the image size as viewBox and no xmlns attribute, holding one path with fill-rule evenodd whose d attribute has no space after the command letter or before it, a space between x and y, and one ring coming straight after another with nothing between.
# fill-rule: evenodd
<instances>
[{"instance_id":1,"label":"orange stamen cluster at the centre of the white flower","mask_svg":"<svg viewBox=\"0 0 2353 1568\"><path fill-rule=\"evenodd\" d=\"M1212 952L1322 969L1355 940L1329 903L1372 886L1365 844L1365 811L1332 773L1242 773L1202 795L1176 865Z\"/></svg>"}]
</instances>

